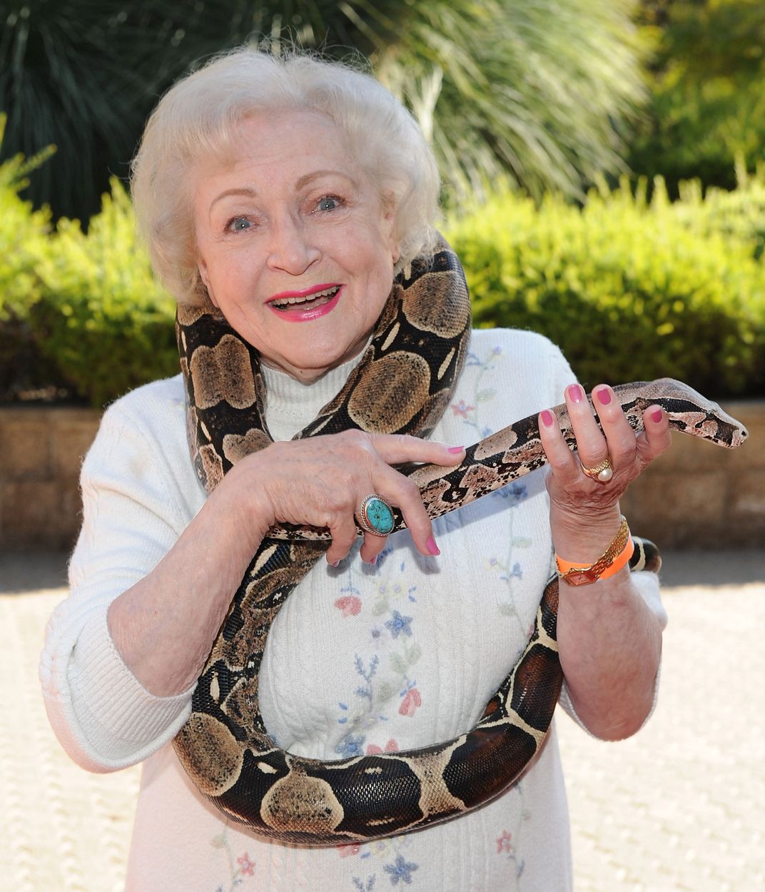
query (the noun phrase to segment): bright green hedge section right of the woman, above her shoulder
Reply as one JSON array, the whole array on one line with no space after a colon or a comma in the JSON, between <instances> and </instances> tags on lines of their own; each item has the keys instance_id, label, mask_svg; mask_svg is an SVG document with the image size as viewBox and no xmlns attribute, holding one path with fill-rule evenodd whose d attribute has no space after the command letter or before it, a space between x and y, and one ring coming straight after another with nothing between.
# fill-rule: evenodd
<instances>
[{"instance_id":1,"label":"bright green hedge section right of the woman, above her shoulder","mask_svg":"<svg viewBox=\"0 0 765 892\"><path fill-rule=\"evenodd\" d=\"M661 185L661 184L660 184ZM721 196L720 196L721 200ZM501 194L448 220L478 326L529 328L559 344L593 385L670 376L710 396L765 385L765 268L753 230L629 187L580 210ZM725 224L725 225L722 225Z\"/></svg>"}]
</instances>

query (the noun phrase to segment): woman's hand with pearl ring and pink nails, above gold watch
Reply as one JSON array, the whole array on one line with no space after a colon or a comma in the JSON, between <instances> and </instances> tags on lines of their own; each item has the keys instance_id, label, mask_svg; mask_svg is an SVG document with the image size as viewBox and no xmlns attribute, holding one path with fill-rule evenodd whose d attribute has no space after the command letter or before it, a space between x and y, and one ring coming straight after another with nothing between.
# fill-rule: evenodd
<instances>
[{"instance_id":1,"label":"woman's hand with pearl ring and pink nails, above gold watch","mask_svg":"<svg viewBox=\"0 0 765 892\"><path fill-rule=\"evenodd\" d=\"M645 430L636 434L613 390L598 384L592 392L603 433L579 384L566 388L565 401L577 442L572 453L552 412L539 414L539 434L551 473L547 475L555 549L563 558L596 560L619 526L619 499L628 484L670 446L670 425L660 406L643 413ZM590 479L582 467L609 458L613 477Z\"/></svg>"}]
</instances>

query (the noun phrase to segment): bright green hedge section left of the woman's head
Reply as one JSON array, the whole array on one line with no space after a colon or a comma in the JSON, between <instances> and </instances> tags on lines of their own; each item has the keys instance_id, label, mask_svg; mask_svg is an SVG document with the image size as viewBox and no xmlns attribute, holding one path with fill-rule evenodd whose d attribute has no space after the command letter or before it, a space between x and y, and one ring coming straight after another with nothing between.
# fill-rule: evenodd
<instances>
[{"instance_id":1,"label":"bright green hedge section left of the woman's head","mask_svg":"<svg viewBox=\"0 0 765 892\"><path fill-rule=\"evenodd\" d=\"M21 201L22 160L0 165L0 401L103 406L139 384L175 375L175 301L136 244L125 189L90 219L54 229Z\"/></svg>"}]
</instances>

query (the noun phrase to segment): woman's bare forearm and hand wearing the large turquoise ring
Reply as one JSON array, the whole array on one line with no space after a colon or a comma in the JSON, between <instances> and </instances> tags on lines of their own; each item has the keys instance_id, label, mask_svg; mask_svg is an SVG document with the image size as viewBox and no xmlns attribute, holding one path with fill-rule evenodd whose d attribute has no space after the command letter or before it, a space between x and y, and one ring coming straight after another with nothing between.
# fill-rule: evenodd
<instances>
[{"instance_id":1,"label":"woman's bare forearm and hand wearing the large turquoise ring","mask_svg":"<svg viewBox=\"0 0 765 892\"><path fill-rule=\"evenodd\" d=\"M160 563L111 602L111 637L136 679L157 697L189 690L202 672L245 569L277 523L325 526L326 559L344 558L356 539L354 515L371 493L401 508L417 548L437 553L414 483L391 465L457 465L463 450L397 434L342 434L276 442L243 458ZM385 539L368 534L362 558Z\"/></svg>"}]
</instances>

